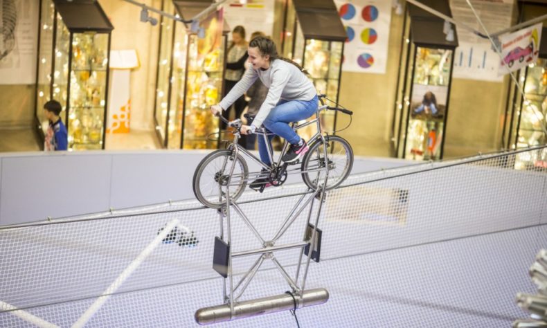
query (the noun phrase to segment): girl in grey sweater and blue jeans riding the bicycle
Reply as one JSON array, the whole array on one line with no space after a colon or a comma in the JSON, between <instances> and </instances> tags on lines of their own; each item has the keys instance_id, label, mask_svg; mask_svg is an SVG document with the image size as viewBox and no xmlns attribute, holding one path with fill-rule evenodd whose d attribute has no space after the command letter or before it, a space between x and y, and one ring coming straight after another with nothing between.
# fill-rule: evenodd
<instances>
[{"instance_id":1,"label":"girl in grey sweater and blue jeans riding the bicycle","mask_svg":"<svg viewBox=\"0 0 547 328\"><path fill-rule=\"evenodd\" d=\"M213 115L222 113L260 78L269 89L268 95L251 125L243 125L240 131L242 134L252 134L264 124L267 130L285 138L291 144L282 160L285 163L294 163L302 158L308 148L305 140L296 134L289 123L305 120L317 111L317 92L301 66L280 57L276 44L268 37L252 39L247 53L251 67L245 71L240 82L233 86L219 104L213 105L210 111ZM267 147L271 147L273 137L273 134L268 136L268 145L264 138L258 138L260 159L267 165L271 165ZM256 187L265 184L267 187L267 182L267 178L260 178L250 186L253 188L253 185Z\"/></svg>"}]
</instances>

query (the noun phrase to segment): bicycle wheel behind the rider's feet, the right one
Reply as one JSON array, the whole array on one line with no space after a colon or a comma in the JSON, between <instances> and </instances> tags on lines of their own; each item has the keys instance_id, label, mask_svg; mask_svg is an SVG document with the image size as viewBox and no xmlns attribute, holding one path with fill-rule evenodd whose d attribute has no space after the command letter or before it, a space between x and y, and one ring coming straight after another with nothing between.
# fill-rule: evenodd
<instances>
[{"instance_id":1,"label":"bicycle wheel behind the rider's feet, the right one","mask_svg":"<svg viewBox=\"0 0 547 328\"><path fill-rule=\"evenodd\" d=\"M325 145L327 158L325 158ZM302 161L302 179L316 190L325 182L328 170L326 190L337 188L353 167L353 150L346 139L339 136L325 137L325 143L317 140L310 146Z\"/></svg>"}]
</instances>

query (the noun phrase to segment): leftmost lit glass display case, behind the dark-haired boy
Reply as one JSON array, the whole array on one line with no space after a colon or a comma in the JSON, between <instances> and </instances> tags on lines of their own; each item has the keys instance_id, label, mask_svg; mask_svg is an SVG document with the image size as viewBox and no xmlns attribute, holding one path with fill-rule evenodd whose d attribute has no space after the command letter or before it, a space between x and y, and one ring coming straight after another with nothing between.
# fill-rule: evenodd
<instances>
[{"instance_id":1,"label":"leftmost lit glass display case, behind the dark-haired boy","mask_svg":"<svg viewBox=\"0 0 547 328\"><path fill-rule=\"evenodd\" d=\"M42 0L36 121L48 129L44 103L57 100L69 150L104 149L110 33L97 1Z\"/></svg>"}]
</instances>

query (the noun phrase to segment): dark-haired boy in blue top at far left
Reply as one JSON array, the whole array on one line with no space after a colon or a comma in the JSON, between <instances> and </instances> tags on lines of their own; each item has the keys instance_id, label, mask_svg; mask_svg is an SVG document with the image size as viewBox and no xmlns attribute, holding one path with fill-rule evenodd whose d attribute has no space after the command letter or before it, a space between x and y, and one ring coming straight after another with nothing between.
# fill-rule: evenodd
<instances>
[{"instance_id":1,"label":"dark-haired boy in blue top at far left","mask_svg":"<svg viewBox=\"0 0 547 328\"><path fill-rule=\"evenodd\" d=\"M61 111L61 104L57 100L49 100L44 104L44 116L46 116L49 121L44 143L44 150L46 152L52 150L66 150L68 148L66 127L64 127L60 118Z\"/></svg>"}]
</instances>

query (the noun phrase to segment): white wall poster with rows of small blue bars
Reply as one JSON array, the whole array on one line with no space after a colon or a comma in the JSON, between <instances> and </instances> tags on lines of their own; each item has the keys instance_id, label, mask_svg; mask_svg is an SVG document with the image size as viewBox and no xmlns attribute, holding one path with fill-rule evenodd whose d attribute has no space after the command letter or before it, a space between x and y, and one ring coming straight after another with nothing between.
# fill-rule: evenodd
<instances>
[{"instance_id":1,"label":"white wall poster with rows of small blue bars","mask_svg":"<svg viewBox=\"0 0 547 328\"><path fill-rule=\"evenodd\" d=\"M514 0L474 0L473 8L481 18L488 33L511 26ZM469 7L467 0L450 0L452 17L475 30L483 30ZM502 82L498 75L499 55L493 50L490 40L456 26L458 43L454 53L454 78Z\"/></svg>"}]
</instances>

